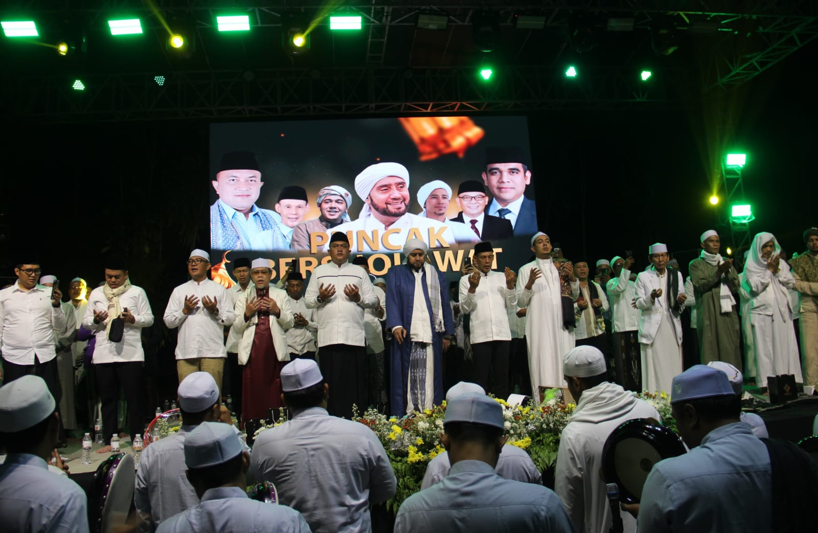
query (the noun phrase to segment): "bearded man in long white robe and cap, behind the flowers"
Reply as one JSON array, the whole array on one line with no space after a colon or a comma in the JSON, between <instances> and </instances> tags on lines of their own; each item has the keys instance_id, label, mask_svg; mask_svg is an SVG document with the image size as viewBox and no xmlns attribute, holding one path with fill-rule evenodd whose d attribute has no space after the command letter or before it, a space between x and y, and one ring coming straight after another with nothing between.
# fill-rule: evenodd
<instances>
[{"instance_id":1,"label":"bearded man in long white robe and cap, behind the flowers","mask_svg":"<svg viewBox=\"0 0 818 533\"><path fill-rule=\"evenodd\" d=\"M551 237L538 232L531 237L535 259L517 273L517 307L526 311L525 337L528 341L528 370L531 390L562 386L562 357L574 346L573 328L565 326L560 272L551 260ZM579 296L579 281L569 269L572 296ZM573 318L573 308L569 310Z\"/></svg>"}]
</instances>

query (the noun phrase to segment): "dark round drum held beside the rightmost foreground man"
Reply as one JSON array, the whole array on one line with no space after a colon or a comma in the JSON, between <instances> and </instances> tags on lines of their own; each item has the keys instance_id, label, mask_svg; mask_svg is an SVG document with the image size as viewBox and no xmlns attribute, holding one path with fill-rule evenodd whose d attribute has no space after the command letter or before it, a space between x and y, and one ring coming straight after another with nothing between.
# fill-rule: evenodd
<instances>
[{"instance_id":1,"label":"dark round drum held beside the rightmost foreground man","mask_svg":"<svg viewBox=\"0 0 818 533\"><path fill-rule=\"evenodd\" d=\"M623 422L605 440L602 468L606 483L616 483L619 499L638 504L651 468L662 459L685 453L679 436L647 418Z\"/></svg>"}]
</instances>

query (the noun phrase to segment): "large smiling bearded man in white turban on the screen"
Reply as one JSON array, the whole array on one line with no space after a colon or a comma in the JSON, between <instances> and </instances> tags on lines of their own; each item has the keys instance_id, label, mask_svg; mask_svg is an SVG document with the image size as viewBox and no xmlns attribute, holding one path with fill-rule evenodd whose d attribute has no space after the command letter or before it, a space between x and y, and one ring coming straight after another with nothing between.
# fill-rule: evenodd
<instances>
[{"instance_id":1,"label":"large smiling bearded man in white turban on the screen","mask_svg":"<svg viewBox=\"0 0 818 533\"><path fill-rule=\"evenodd\" d=\"M355 192L364 201L361 214L357 220L335 227L336 232L352 232L350 253L398 251L403 242L413 237L422 239L431 247L456 242L448 224L408 212L409 171L400 163L366 167L355 178ZM387 231L389 234L384 235ZM357 247L358 232L362 232L362 250ZM429 242L430 236L434 237L432 242Z\"/></svg>"}]
</instances>

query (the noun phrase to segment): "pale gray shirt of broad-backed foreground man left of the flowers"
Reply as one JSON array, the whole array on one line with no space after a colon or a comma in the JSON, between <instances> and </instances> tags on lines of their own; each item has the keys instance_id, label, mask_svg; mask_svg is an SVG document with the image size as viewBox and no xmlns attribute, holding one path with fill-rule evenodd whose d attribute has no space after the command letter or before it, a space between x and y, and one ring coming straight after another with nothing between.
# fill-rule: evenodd
<instances>
[{"instance_id":1,"label":"pale gray shirt of broad-backed foreground man left of the flowers","mask_svg":"<svg viewBox=\"0 0 818 533\"><path fill-rule=\"evenodd\" d=\"M252 465L255 479L275 483L281 504L317 533L371 531L369 504L391 498L397 486L375 433L320 407L260 433Z\"/></svg>"}]
</instances>

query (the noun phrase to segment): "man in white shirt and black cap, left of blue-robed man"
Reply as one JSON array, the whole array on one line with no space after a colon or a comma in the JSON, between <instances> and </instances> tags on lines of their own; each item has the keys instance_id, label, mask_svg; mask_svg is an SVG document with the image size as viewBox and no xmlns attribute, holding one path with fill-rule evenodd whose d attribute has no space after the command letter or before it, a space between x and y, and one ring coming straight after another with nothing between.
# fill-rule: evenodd
<instances>
[{"instance_id":1,"label":"man in white shirt and black cap, left of blue-robed man","mask_svg":"<svg viewBox=\"0 0 818 533\"><path fill-rule=\"evenodd\" d=\"M378 299L366 270L348 260L346 233L333 233L330 262L312 272L304 305L316 309L321 374L335 391L330 414L352 418L353 404L361 410L369 404L364 309L377 307Z\"/></svg>"}]
</instances>

